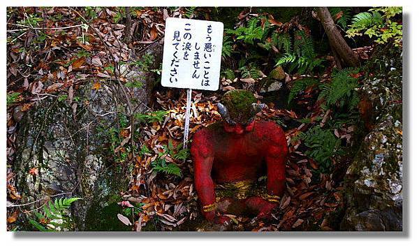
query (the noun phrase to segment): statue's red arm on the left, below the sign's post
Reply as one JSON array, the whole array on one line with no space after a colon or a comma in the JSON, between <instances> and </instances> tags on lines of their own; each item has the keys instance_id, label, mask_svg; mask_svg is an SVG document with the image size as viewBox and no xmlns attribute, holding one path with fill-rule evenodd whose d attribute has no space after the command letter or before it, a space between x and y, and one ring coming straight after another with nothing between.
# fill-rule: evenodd
<instances>
[{"instance_id":1,"label":"statue's red arm on the left, below the sign's post","mask_svg":"<svg viewBox=\"0 0 419 248\"><path fill-rule=\"evenodd\" d=\"M214 221L216 205L214 183L211 178L214 153L209 140L203 133L196 133L196 136L193 138L191 155L195 187L202 205L201 210L207 220Z\"/></svg>"}]
</instances>

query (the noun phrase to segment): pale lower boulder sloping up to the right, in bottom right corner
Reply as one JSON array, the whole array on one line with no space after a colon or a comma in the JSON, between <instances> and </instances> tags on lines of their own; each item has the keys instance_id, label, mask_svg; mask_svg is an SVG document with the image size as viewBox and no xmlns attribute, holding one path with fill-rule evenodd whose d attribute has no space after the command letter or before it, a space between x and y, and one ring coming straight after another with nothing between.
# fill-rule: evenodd
<instances>
[{"instance_id":1,"label":"pale lower boulder sloping up to the right, in bottom right corner","mask_svg":"<svg viewBox=\"0 0 419 248\"><path fill-rule=\"evenodd\" d=\"M345 177L346 231L402 230L402 122L394 105L360 145Z\"/></svg>"}]
</instances>

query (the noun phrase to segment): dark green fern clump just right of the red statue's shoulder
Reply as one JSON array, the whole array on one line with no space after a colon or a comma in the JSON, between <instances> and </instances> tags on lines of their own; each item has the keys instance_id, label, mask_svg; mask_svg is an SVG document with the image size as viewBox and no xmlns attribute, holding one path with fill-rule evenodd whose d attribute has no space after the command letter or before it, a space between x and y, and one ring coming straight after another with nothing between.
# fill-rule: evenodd
<instances>
[{"instance_id":1,"label":"dark green fern clump just right of the red statue's shoulder","mask_svg":"<svg viewBox=\"0 0 419 248\"><path fill-rule=\"evenodd\" d=\"M319 163L321 169L326 171L332 166L332 156L341 152L341 140L328 129L314 126L306 133L300 133L299 138L309 147L305 154Z\"/></svg>"}]
</instances>

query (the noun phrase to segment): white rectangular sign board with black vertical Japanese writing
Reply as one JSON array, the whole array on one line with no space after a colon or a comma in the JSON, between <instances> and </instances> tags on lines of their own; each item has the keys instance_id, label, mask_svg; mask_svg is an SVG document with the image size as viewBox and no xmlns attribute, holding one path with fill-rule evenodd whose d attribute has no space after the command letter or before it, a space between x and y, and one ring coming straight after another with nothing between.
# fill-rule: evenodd
<instances>
[{"instance_id":1,"label":"white rectangular sign board with black vertical Japanese writing","mask_svg":"<svg viewBox=\"0 0 419 248\"><path fill-rule=\"evenodd\" d=\"M168 17L161 85L219 89L223 23Z\"/></svg>"}]
</instances>

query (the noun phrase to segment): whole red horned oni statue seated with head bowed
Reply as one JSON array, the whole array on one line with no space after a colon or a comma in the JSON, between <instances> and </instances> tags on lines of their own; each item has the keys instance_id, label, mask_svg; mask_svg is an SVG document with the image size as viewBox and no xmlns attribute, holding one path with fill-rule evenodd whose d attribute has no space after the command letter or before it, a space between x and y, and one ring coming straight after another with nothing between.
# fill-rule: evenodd
<instances>
[{"instance_id":1,"label":"whole red horned oni statue seated with head bowed","mask_svg":"<svg viewBox=\"0 0 419 248\"><path fill-rule=\"evenodd\" d=\"M285 188L284 131L273 122L255 121L265 104L257 104L251 92L227 92L217 106L223 122L198 131L191 147L203 215L216 224L230 220L222 214L269 218ZM266 187L258 187L263 175Z\"/></svg>"}]
</instances>

